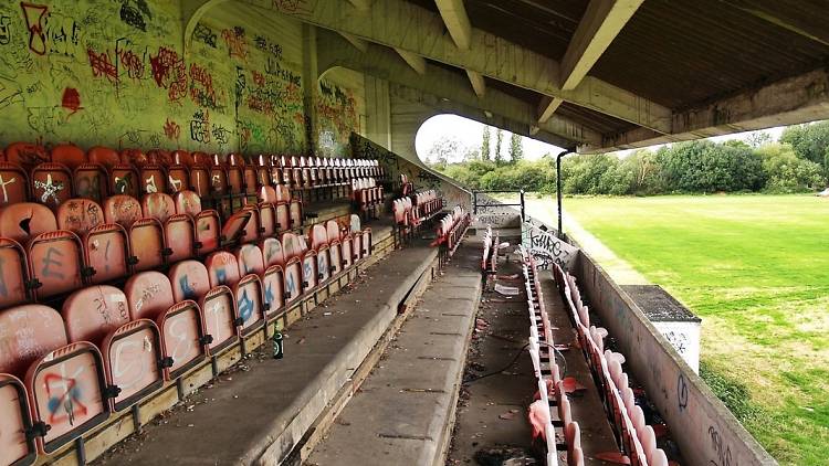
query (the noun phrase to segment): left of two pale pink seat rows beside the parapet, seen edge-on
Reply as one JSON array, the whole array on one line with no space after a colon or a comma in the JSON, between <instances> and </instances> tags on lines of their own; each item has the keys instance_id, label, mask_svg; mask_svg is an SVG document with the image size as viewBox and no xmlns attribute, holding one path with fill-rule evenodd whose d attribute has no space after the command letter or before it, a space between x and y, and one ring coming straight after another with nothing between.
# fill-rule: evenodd
<instances>
[{"instance_id":1,"label":"left of two pale pink seat rows beside the parapet, seen edge-on","mask_svg":"<svg viewBox=\"0 0 829 466\"><path fill-rule=\"evenodd\" d=\"M536 263L523 246L520 251L529 314L529 342L527 347L538 386L538 400L529 405L533 437L544 441L547 449L547 466L556 466L558 464L558 445L555 427L560 427L567 445L567 465L584 466L581 431L578 422L573 420L570 401L564 388L560 369L556 363L553 325L544 304ZM555 423L550 405L557 407L558 419Z\"/></svg>"}]
</instances>

